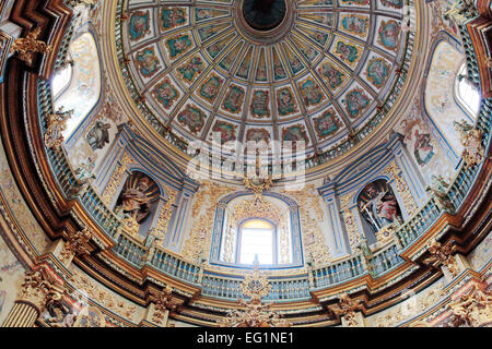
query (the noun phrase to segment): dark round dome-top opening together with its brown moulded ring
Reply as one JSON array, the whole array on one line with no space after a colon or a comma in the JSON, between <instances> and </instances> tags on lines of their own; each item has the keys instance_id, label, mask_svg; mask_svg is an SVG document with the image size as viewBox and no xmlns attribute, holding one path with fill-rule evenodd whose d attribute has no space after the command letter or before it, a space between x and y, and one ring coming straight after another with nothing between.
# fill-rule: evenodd
<instances>
[{"instance_id":1,"label":"dark round dome-top opening together with its brown moulded ring","mask_svg":"<svg viewBox=\"0 0 492 349\"><path fill-rule=\"evenodd\" d=\"M253 44L274 44L291 32L295 11L286 0L239 0L235 4L235 23Z\"/></svg>"}]
</instances>

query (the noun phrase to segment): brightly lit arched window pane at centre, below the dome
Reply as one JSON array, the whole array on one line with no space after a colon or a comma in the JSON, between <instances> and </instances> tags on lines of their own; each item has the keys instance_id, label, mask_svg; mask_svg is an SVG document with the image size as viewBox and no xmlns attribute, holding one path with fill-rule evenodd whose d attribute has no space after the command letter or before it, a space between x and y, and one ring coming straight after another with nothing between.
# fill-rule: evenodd
<instances>
[{"instance_id":1,"label":"brightly lit arched window pane at centre, below the dome","mask_svg":"<svg viewBox=\"0 0 492 349\"><path fill-rule=\"evenodd\" d=\"M239 264L253 264L258 256L260 264L276 264L276 228L265 219L248 219L239 229Z\"/></svg>"}]
</instances>

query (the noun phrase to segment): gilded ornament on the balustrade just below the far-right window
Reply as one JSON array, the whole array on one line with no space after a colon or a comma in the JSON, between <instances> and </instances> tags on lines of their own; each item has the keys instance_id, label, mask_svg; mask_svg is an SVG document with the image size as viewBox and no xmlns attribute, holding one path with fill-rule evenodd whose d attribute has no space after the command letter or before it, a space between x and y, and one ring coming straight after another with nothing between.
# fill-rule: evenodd
<instances>
[{"instance_id":1,"label":"gilded ornament on the balustrade just below the far-right window","mask_svg":"<svg viewBox=\"0 0 492 349\"><path fill-rule=\"evenodd\" d=\"M473 129L465 120L455 121L454 128L458 132L459 141L464 146L461 157L467 167L481 164L485 155L485 148L482 145L482 131Z\"/></svg>"}]
</instances>

